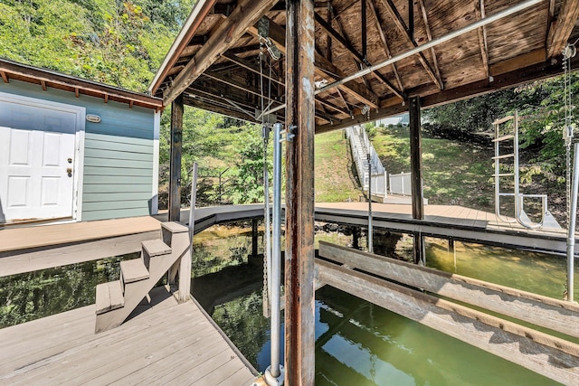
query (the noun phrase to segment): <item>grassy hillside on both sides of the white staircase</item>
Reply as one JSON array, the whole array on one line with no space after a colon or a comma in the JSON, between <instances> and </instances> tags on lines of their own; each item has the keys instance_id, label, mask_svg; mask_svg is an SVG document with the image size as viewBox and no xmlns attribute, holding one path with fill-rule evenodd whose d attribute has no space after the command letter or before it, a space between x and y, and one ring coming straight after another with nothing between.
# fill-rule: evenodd
<instances>
[{"instance_id":1,"label":"grassy hillside on both sides of the white staircase","mask_svg":"<svg viewBox=\"0 0 579 386\"><path fill-rule=\"evenodd\" d=\"M405 127L379 128L373 139L388 173L410 172L410 145ZM422 138L424 196L432 204L455 204L493 211L492 149ZM343 132L316 136L316 201L357 201L361 194ZM356 175L356 174L354 174Z\"/></svg>"}]
</instances>

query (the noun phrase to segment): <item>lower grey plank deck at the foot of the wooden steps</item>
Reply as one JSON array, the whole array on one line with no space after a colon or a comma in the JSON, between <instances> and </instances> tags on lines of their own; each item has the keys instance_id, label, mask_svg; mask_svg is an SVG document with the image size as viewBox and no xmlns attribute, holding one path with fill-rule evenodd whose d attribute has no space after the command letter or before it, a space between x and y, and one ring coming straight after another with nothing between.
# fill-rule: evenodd
<instances>
[{"instance_id":1,"label":"lower grey plank deck at the foot of the wooden steps","mask_svg":"<svg viewBox=\"0 0 579 386\"><path fill-rule=\"evenodd\" d=\"M0 384L257 384L256 372L194 301L164 287L132 318L95 334L95 306L0 330Z\"/></svg>"}]
</instances>

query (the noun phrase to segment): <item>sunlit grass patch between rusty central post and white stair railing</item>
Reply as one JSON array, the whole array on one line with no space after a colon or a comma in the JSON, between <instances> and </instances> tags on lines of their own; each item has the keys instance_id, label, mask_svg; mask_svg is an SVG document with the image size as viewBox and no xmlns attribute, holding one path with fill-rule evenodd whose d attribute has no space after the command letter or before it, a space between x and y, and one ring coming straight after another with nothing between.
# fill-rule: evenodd
<instances>
[{"instance_id":1,"label":"sunlit grass patch between rusty central post and white stair railing","mask_svg":"<svg viewBox=\"0 0 579 386\"><path fill-rule=\"evenodd\" d=\"M358 201L356 174L342 130L319 134L315 139L316 202Z\"/></svg>"}]
</instances>

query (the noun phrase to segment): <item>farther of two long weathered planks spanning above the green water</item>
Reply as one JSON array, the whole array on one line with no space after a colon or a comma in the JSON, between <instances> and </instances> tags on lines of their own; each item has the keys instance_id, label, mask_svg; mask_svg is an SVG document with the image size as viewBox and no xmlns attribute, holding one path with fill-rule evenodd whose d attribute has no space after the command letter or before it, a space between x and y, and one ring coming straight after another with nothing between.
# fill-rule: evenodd
<instances>
[{"instance_id":1,"label":"farther of two long weathered planks spanning above the green water","mask_svg":"<svg viewBox=\"0 0 579 386\"><path fill-rule=\"evenodd\" d=\"M383 278L579 337L579 305L319 241L319 256Z\"/></svg>"}]
</instances>

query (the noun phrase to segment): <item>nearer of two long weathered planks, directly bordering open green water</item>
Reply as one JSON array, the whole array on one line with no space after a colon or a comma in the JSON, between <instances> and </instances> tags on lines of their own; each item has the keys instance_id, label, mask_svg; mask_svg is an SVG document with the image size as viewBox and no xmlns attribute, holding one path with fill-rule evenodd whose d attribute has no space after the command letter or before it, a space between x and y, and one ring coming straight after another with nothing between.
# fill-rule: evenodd
<instances>
[{"instance_id":1,"label":"nearer of two long weathered planks, directly bordering open green water","mask_svg":"<svg viewBox=\"0 0 579 386\"><path fill-rule=\"evenodd\" d=\"M465 306L316 261L318 279L564 384L579 382L579 345Z\"/></svg>"}]
</instances>

